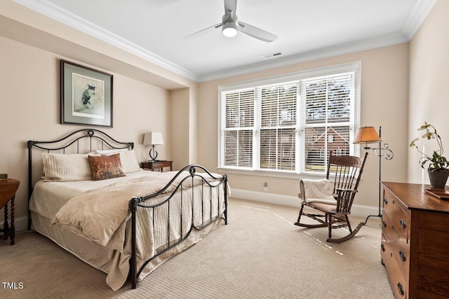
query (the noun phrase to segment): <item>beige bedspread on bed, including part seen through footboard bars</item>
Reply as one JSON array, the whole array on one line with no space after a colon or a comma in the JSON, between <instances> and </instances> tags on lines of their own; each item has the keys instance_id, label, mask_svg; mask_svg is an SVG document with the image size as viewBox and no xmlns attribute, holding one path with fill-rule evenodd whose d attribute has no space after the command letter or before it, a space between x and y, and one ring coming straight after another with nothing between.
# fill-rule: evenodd
<instances>
[{"instance_id":1,"label":"beige bedspread on bed, including part seen through footboard bars","mask_svg":"<svg viewBox=\"0 0 449 299\"><path fill-rule=\"evenodd\" d=\"M136 177L127 181L116 181L108 186L102 186L93 190L87 190L80 195L76 195L66 204L62 205L53 218L52 225L62 225L65 230L75 232L86 239L92 240L95 244L112 249L112 265L107 276L107 284L115 291L126 281L129 272L130 258L130 211L129 203L133 197L140 197L154 194L161 190L176 172L164 172L157 176ZM178 177L175 182L164 191L159 197L143 202L144 204L154 204L163 202L173 193L175 187L182 179L189 176ZM205 176L208 177L208 176ZM217 181L208 179L210 183ZM137 214L138 220L138 240L137 255L138 267L146 260L154 256L157 249L166 246L167 242L180 239L194 224L198 227L201 223L208 221L210 217L221 215L225 210L225 196L223 189L209 188L202 179L195 177L192 186L192 178L183 181L182 196L179 190L170 200L170 206L163 204L152 211L152 209L140 208ZM206 186L206 187L205 187ZM192 200L192 193L194 199ZM201 194L203 197L201 197ZM209 198L220 197L220 204ZM201 200L205 198L206 200ZM212 202L212 204L210 204ZM193 205L193 207L192 207ZM168 209L170 218L167 217ZM192 211L194 216L192 217ZM204 213L203 213L203 212ZM180 216L182 214L182 216ZM170 221L170 225L168 225ZM217 225L220 225L219 221ZM192 234L186 244L178 246L172 252L176 253L184 250L188 246L196 243L204 235L217 225L211 225L204 232ZM170 231L168 231L170 230ZM159 264L149 264L149 269L145 270L139 277L142 279Z\"/></svg>"}]
</instances>

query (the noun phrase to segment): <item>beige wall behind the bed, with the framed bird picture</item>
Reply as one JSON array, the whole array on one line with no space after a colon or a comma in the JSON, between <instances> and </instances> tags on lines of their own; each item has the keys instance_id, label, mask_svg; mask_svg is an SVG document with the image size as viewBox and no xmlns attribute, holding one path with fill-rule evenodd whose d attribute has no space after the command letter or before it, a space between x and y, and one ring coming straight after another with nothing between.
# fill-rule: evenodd
<instances>
[{"instance_id":1,"label":"beige wall behind the bed, with the framed bird picture","mask_svg":"<svg viewBox=\"0 0 449 299\"><path fill-rule=\"evenodd\" d=\"M27 215L26 141L62 137L81 126L60 124L59 63L66 57L3 37L0 45L0 173L20 181L15 200L15 217L20 218ZM170 92L113 75L114 127L96 128L119 141L135 142L138 159L145 161L148 148L142 145L143 134L154 130L170 136ZM166 144L158 148L159 157L170 158L170 138L164 141Z\"/></svg>"}]
</instances>

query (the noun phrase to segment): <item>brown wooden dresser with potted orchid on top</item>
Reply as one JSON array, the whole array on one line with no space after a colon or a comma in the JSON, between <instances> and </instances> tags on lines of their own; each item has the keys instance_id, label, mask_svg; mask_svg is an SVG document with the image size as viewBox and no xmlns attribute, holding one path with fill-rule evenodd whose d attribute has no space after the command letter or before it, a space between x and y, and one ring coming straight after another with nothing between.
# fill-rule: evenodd
<instances>
[{"instance_id":1,"label":"brown wooden dresser with potted orchid on top","mask_svg":"<svg viewBox=\"0 0 449 299\"><path fill-rule=\"evenodd\" d=\"M449 298L449 201L382 182L380 255L396 298Z\"/></svg>"}]
</instances>

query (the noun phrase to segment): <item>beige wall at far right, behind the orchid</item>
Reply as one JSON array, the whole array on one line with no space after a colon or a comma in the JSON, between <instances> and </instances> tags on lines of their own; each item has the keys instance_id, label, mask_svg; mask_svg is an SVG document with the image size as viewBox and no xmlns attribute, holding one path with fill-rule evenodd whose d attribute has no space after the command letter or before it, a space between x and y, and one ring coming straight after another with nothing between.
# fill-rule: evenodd
<instances>
[{"instance_id":1,"label":"beige wall at far right, behind the orchid","mask_svg":"<svg viewBox=\"0 0 449 299\"><path fill-rule=\"evenodd\" d=\"M449 158L449 1L438 0L426 20L410 41L410 102L408 141L420 137L417 128L424 121L434 125L441 135L445 156ZM421 134L420 134L421 133ZM434 140L432 140L434 141ZM418 143L426 153L437 150L436 142ZM420 167L420 154L408 149L408 181L429 183Z\"/></svg>"}]
</instances>

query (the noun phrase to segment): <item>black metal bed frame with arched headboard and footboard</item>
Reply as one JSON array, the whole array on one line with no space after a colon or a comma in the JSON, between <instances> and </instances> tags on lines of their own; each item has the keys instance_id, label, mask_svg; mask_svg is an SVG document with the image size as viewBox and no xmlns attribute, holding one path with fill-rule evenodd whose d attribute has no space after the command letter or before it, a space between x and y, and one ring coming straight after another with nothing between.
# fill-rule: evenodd
<instances>
[{"instance_id":1,"label":"black metal bed frame with arched headboard and footboard","mask_svg":"<svg viewBox=\"0 0 449 299\"><path fill-rule=\"evenodd\" d=\"M97 135L95 135L95 134L97 134ZM31 195L32 195L32 191L33 191L32 149L35 147L35 148L40 148L43 151L47 151L47 153L50 153L50 151L62 151L62 153L65 153L66 148L69 148L69 146L76 145L76 153L79 153L79 147L80 147L79 143L80 143L81 139L85 139L85 138L89 139L89 151L93 150L93 144L92 144L93 139L98 139L98 141L100 141L101 149L105 149L105 146L108 149L109 148L111 148L111 149L118 149L118 148L133 149L134 148L133 142L116 141L116 139L113 139L105 132L102 132L102 131L96 130L96 129L76 130L72 133L67 134L65 137L62 137L62 138L60 138L58 140L54 140L54 141L31 141L31 140L27 141L27 148L28 148L28 204L29 204L29 200L31 199ZM71 140L67 141L68 143L65 144L64 146L58 146L59 143L61 143L62 141L65 141L66 139L71 139ZM43 144L51 144L51 145L54 145L55 147L51 147L51 145L43 146ZM100 148L96 148L96 149L100 149ZM214 184L214 185L210 184L203 177L203 175L198 174L196 172L197 169L202 169L211 179L218 180L219 183ZM177 186L175 186L175 190L173 190L171 195L168 196L168 198L166 198L166 200L163 200L163 202L160 202L158 204L152 204L152 205L145 204L146 200L149 200L153 197L161 195L165 190L170 188L170 186L172 186L175 179L177 179L179 176L181 176L183 174L185 175L185 171L187 171L187 170L189 171L189 174L187 176L185 176ZM180 197L181 197L180 202L182 204L182 194L183 194L183 192L187 191L186 189L182 188L182 183L184 183L187 179L192 179L192 187L190 187L190 188L192 188L192 199L193 199L194 198L193 181L194 181L195 176L198 176L201 178L201 225L199 225L199 226L194 225L194 204L192 203L192 223L191 223L189 230L187 230L187 232L185 232L185 233L182 232L183 215L181 213L180 214L180 218L181 218L180 238L170 241L170 225L174 225L173 223L170 223L170 199L173 198L175 193L180 192ZM218 209L217 216L212 217L212 200L213 199L212 199L212 192L210 192L210 198L208 199L210 201L210 219L208 219L208 221L206 221L206 222L203 221L203 219L204 219L204 217L203 217L204 216L204 202L205 202L205 200L207 200L203 197L203 194L204 194L203 189L204 188L210 188L211 191L213 188L217 189L217 209ZM225 209L222 213L222 216L219 213L219 211L220 211L220 190L219 190L219 188L223 188L224 196L225 196L225 198L223 200L223 202L225 202ZM168 243L165 246L161 246L161 248L157 249L156 254L154 256L152 256L152 258L149 258L149 260L147 260L145 263L143 263L143 265L140 267L140 269L138 269L137 253L136 253L136 245L137 245L137 235L136 235L137 230L136 229L137 229L137 225L138 225L137 224L138 209L152 209L152 213L154 214L154 208L161 207L164 204L166 204L168 207L168 214L167 214ZM227 224L227 175L225 174L222 176L214 176L213 174L210 174L210 172L208 172L208 170L206 168L202 167L201 165L186 166L183 169L181 169L179 172L177 172L177 174L173 177L173 179L165 187L163 187L159 192L151 194L151 195L147 195L145 197L137 197L137 198L130 199L129 208L130 208L130 212L131 212L130 279L131 279L131 287L137 288L138 277L140 276L140 273L142 272L142 270L144 270L145 266L149 262L151 262L154 258L156 258L157 256L161 255L162 253L168 251L169 249L172 249L173 247L175 247L178 244L185 241L185 239L187 239L187 237L189 237L192 230L203 230L203 228L208 227L208 225L211 225L211 224L215 223L215 221L219 221L220 219L225 221L225 225ZM181 211L182 211L182 209L181 209ZM154 222L154 218L153 218L153 222ZM31 211L29 211L29 209L28 209L28 230L31 230L31 225L32 225Z\"/></svg>"}]
</instances>

